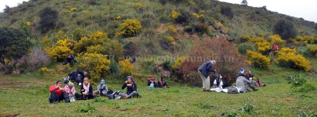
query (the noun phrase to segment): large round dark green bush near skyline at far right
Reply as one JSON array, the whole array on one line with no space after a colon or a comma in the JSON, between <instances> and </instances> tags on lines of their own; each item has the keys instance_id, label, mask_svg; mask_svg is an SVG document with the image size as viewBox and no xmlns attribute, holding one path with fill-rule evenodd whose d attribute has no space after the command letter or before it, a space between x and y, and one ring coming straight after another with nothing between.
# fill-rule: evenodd
<instances>
[{"instance_id":1,"label":"large round dark green bush near skyline at far right","mask_svg":"<svg viewBox=\"0 0 317 117\"><path fill-rule=\"evenodd\" d=\"M295 38L297 36L297 30L294 24L285 19L280 19L275 22L273 26L274 34L278 34L282 39Z\"/></svg>"}]
</instances>

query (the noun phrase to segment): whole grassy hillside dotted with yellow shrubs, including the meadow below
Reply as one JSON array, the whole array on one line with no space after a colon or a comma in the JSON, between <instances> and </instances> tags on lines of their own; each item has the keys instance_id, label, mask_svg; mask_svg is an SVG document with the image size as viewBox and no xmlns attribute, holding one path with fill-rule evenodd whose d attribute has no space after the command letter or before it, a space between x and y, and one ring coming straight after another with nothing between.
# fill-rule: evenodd
<instances>
[{"instance_id":1,"label":"whole grassy hillside dotted with yellow shrubs, including the meadow below","mask_svg":"<svg viewBox=\"0 0 317 117\"><path fill-rule=\"evenodd\" d=\"M225 6L232 9L232 19L221 14L221 8ZM53 29L41 33L38 29L39 12L45 7L57 10L58 21ZM169 16L173 11L176 14L178 11L185 13L181 15L182 22ZM133 36L115 36L120 24L127 19L137 19L142 26L140 31ZM279 19L286 19L294 23L296 30L300 30L298 34L300 37L296 38L297 40L281 41L279 48L284 46L296 49L294 55L296 53L298 56L303 55L306 58L302 57L298 60L297 58L300 57L291 56L290 58L295 60L296 64L281 66L276 64L277 56L268 57L266 50L259 53L264 56L263 58L267 58L269 67L259 69L246 65L246 69L252 71L252 74L268 87L260 87L256 92L240 94L202 92L201 87L191 86L185 82L177 67L172 68L175 63L178 64L178 67L182 65L184 60L175 61L179 56L186 57L193 50L196 53L207 50L204 49L207 47L202 47L201 50L192 48L193 45L199 47L197 44L201 44L207 39L217 41L214 39L232 38L233 40L229 40L232 42L220 43L226 47L217 48L220 49L219 52L224 48L230 50L231 53L237 53L236 56L241 58L246 55L239 53L235 48L240 51L241 48L248 47L256 51L256 46L261 47L264 42L267 44L266 47L270 47L272 40L268 36L274 34L273 26ZM302 18L279 14L264 8L214 0L30 0L0 14L0 27L24 30L25 26L27 26L26 31L29 31L27 39L32 43L31 48L39 51L38 53L42 52L42 58L49 59L49 55L44 50L50 52L49 54L56 54L57 52L51 50L56 46L61 46L60 51L74 52L76 60L79 61L74 64L73 68L91 70L90 68L97 67L84 68L81 64L86 63L89 59L84 59L85 56L82 56L83 53L91 52L87 52L88 46L92 47L91 50L102 49L99 54L101 56L114 55L113 59L103 56L105 60L103 65L109 66L110 69L102 70L104 73L97 78L94 77L94 81L91 81L98 83L101 78L105 79L108 88L113 91L121 90L121 85L126 77L121 74L122 69L120 68L125 67L119 67L119 61L126 56L136 57L136 61L130 67L134 70L132 75L138 83L138 93L142 95L142 98L107 100L101 97L88 101L52 105L48 103L49 86L54 85L56 80L65 77L73 71L73 68L63 67L60 61L48 64L49 60L41 61L46 64L42 63L42 66L39 65L40 67L31 66L33 68L30 68L28 59L19 59L17 62L20 63L14 64L17 67L12 66L12 68L21 70L21 75L0 75L0 86L2 86L0 93L3 94L0 96L0 100L2 100L0 115L3 116L221 116L222 113L230 111L241 116L295 116L300 109L317 106L315 102L316 87L312 85L317 82L315 79L317 57L316 52L310 50L317 43L316 23L305 21ZM249 36L249 40L242 39L241 35ZM102 41L98 39L96 41L94 37L99 37L98 39ZM86 42L80 42L85 39ZM307 39L313 41L310 43ZM58 41L59 43L57 43ZM210 48L215 47L211 45ZM67 55L68 52L63 54ZM94 52L92 51L92 53ZM222 55L229 53L221 52ZM33 51L30 53L28 55L36 56ZM195 55L193 56L195 57ZM230 55L228 56L230 57ZM287 57L285 58L287 59ZM64 59L64 56L60 59ZM108 59L111 60L110 63L108 63ZM304 60L308 60L310 63ZM89 59L89 62L92 61ZM295 65L302 62L306 62L308 64L306 67L311 67L311 69L304 72L300 68L296 68ZM94 65L96 64L98 63ZM218 64L219 66L216 64L213 68L217 67L222 72L230 71L234 74L238 72L235 71L236 69L242 67L232 62L230 62L230 67L225 66L227 64L221 66L222 62L218 62ZM41 73L39 70L41 67L47 67L48 71ZM22 70L22 68L26 69ZM197 68L194 69L195 72L189 72L194 74L189 74L187 77L196 78L198 76ZM88 71L88 76L93 71ZM307 79L304 86L293 87L288 84L288 77L297 73L301 73ZM171 76L165 78L170 84L170 88L151 89L146 86L149 75L159 77L163 74ZM91 78L91 76L89 77ZM201 83L200 78L198 79ZM235 79L231 79L231 81L235 81ZM233 82L233 84L235 83ZM93 87L96 89L96 86ZM79 89L76 87L76 91ZM242 108L242 102L247 101L248 98L256 108L254 114L242 114L238 110ZM103 99L105 101L101 102L100 100ZM80 106L89 103L92 103L91 107L94 107L95 110L88 113L80 112Z\"/></svg>"}]
</instances>

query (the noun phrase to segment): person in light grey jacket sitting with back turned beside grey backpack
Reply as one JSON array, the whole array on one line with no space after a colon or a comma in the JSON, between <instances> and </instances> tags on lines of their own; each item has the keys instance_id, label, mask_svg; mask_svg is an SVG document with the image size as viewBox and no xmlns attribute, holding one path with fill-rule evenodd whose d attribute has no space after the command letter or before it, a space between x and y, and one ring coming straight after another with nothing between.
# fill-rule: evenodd
<instances>
[{"instance_id":1,"label":"person in light grey jacket sitting with back turned beside grey backpack","mask_svg":"<svg viewBox=\"0 0 317 117\"><path fill-rule=\"evenodd\" d=\"M240 76L236 80L236 87L240 89L240 92L246 92L248 90L248 87L252 88L253 91L257 91L258 89L255 88L251 83L251 81L243 77L243 74L240 74Z\"/></svg>"}]
</instances>

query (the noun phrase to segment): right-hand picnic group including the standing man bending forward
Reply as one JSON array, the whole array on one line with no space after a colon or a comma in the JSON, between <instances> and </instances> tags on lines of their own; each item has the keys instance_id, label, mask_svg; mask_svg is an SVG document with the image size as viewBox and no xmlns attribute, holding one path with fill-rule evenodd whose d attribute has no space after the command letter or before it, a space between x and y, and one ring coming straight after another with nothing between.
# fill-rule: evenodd
<instances>
[{"instance_id":1,"label":"right-hand picnic group including the standing man bending forward","mask_svg":"<svg viewBox=\"0 0 317 117\"><path fill-rule=\"evenodd\" d=\"M203 81L203 91L212 92L213 90L210 89L210 72L214 72L217 74L218 70L212 69L212 66L216 65L216 61L207 61L203 63L198 69L198 75L201 77ZM249 91L248 87L252 88L253 91L257 91L259 86L266 86L265 84L261 83L259 79L254 81L254 76L251 75L251 71L248 73L244 72L244 68L241 68L241 71L237 75L236 79L236 88L238 92L247 92ZM227 88L231 87L229 83L223 83L222 76L216 75L215 81L213 82L212 88Z\"/></svg>"}]
</instances>

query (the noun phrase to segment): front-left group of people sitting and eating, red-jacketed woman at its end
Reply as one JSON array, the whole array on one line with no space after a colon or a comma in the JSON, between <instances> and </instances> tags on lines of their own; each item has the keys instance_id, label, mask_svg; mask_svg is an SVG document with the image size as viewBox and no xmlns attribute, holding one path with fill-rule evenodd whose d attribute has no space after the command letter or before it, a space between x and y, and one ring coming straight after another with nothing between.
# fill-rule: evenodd
<instances>
[{"instance_id":1,"label":"front-left group of people sitting and eating, red-jacketed woman at its end","mask_svg":"<svg viewBox=\"0 0 317 117\"><path fill-rule=\"evenodd\" d=\"M49 102L55 104L56 102L60 102L62 100L64 100L67 103L70 102L70 99L89 100L94 99L98 94L100 94L101 96L108 96L109 99L114 99L114 97L116 97L115 99L141 97L141 95L137 93L137 83L133 81L133 77L127 76L126 78L127 81L125 81L121 87L122 89L127 88L126 93L122 93L121 91L109 91L106 81L103 79L97 86L97 90L94 91L93 86L89 83L89 79L87 77L83 78L83 82L80 85L80 93L76 92L73 83L74 81L72 81L72 79L65 78L65 87L62 87L62 81L58 80L56 81L55 85L49 87L49 92L51 93L49 97Z\"/></svg>"}]
</instances>

